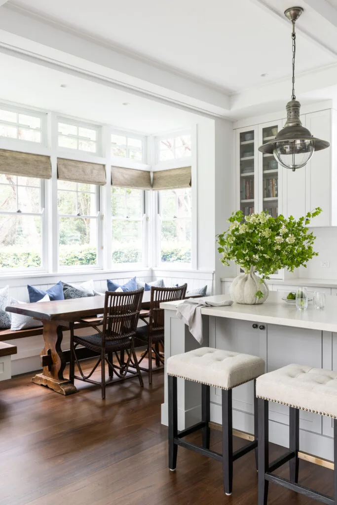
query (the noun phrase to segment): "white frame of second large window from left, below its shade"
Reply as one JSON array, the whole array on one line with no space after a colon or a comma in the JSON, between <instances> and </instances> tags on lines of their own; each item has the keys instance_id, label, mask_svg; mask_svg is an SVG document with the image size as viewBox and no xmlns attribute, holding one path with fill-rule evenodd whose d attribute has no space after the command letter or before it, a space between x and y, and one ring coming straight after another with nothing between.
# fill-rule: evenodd
<instances>
[{"instance_id":1,"label":"white frame of second large window from left, below its shade","mask_svg":"<svg viewBox=\"0 0 337 505\"><path fill-rule=\"evenodd\" d=\"M80 184L80 183L75 183L75 184ZM77 210L77 193L81 192L86 192L86 191L78 191L77 186L76 190L73 189L61 189L60 191L69 191L69 192L76 192L76 210ZM58 198L58 192L59 192L59 187L57 188L57 196ZM102 207L102 190L101 186L98 184L95 185L95 204L96 204L96 214L93 215L78 215L78 214L60 214L59 211L57 212L57 227L58 227L58 240L57 240L57 271L58 272L65 272L69 270L102 270L103 268L103 258L102 258L102 249L103 249L103 213L101 212L101 207ZM88 219L96 219L97 220L97 264L96 265L60 265L60 219L61 218L72 218L72 219L78 219L78 218L88 218Z\"/></svg>"}]
</instances>

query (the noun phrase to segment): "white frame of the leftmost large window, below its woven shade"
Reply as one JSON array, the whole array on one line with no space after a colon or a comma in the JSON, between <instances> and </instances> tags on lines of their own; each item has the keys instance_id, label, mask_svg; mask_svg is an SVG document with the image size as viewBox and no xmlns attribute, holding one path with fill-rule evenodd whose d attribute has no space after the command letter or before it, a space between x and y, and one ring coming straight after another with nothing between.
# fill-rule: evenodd
<instances>
[{"instance_id":1,"label":"white frame of the leftmost large window, below its woven shade","mask_svg":"<svg viewBox=\"0 0 337 505\"><path fill-rule=\"evenodd\" d=\"M24 177L24 176L22 176ZM36 177L39 179L39 177ZM0 277L2 275L8 275L24 272L24 273L44 273L46 272L46 257L47 257L47 233L46 233L46 212L45 212L45 180L40 180L40 212L18 212L17 211L0 211L0 216L40 216L41 218L41 266L40 267L19 267L19 268L7 268L0 270ZM0 188L3 184L0 184ZM16 187L21 184L17 184Z\"/></svg>"}]
</instances>

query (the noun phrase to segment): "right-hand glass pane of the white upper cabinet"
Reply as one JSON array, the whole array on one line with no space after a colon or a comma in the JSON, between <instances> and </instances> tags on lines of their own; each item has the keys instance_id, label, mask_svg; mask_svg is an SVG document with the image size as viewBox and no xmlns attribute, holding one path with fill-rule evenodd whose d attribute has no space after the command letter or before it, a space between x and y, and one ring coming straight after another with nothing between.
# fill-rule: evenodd
<instances>
[{"instance_id":1,"label":"right-hand glass pane of the white upper cabinet","mask_svg":"<svg viewBox=\"0 0 337 505\"><path fill-rule=\"evenodd\" d=\"M277 125L262 128L263 143L275 138L277 131ZM273 155L263 154L262 160L263 210L275 218L278 216L278 163Z\"/></svg>"}]
</instances>

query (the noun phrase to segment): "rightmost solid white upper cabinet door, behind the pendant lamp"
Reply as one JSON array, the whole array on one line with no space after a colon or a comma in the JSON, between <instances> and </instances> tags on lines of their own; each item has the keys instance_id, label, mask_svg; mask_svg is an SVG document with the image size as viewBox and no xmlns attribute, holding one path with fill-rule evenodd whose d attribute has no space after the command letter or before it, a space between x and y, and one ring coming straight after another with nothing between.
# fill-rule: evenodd
<instances>
[{"instance_id":1,"label":"rightmost solid white upper cabinet door, behind the pendant lamp","mask_svg":"<svg viewBox=\"0 0 337 505\"><path fill-rule=\"evenodd\" d=\"M330 110L306 114L306 128L314 137L330 141ZM300 169L301 170L301 169ZM331 147L317 151L307 164L306 210L321 207L323 212L312 222L312 226L331 224Z\"/></svg>"}]
</instances>

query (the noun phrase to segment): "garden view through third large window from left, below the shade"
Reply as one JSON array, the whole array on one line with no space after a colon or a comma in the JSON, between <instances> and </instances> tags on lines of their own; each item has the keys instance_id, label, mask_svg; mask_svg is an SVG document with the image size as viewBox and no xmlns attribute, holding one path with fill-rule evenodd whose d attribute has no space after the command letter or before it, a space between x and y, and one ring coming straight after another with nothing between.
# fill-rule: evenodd
<instances>
[{"instance_id":1,"label":"garden view through third large window from left, below the shade","mask_svg":"<svg viewBox=\"0 0 337 505\"><path fill-rule=\"evenodd\" d=\"M112 262L143 260L144 193L141 189L112 186Z\"/></svg>"}]
</instances>

